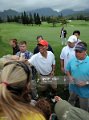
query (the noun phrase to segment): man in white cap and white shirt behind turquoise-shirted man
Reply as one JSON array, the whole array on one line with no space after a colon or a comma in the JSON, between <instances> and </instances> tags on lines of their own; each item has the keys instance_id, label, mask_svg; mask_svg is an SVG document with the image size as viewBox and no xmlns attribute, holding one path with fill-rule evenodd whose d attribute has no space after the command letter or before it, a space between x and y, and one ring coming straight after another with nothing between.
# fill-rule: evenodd
<instances>
[{"instance_id":1,"label":"man in white cap and white shirt behind turquoise-shirted man","mask_svg":"<svg viewBox=\"0 0 89 120\"><path fill-rule=\"evenodd\" d=\"M68 61L75 56L75 43L77 41L77 37L75 35L71 35L68 38L67 45L63 47L60 54L60 63L61 63L61 71L66 73L66 66Z\"/></svg>"}]
</instances>

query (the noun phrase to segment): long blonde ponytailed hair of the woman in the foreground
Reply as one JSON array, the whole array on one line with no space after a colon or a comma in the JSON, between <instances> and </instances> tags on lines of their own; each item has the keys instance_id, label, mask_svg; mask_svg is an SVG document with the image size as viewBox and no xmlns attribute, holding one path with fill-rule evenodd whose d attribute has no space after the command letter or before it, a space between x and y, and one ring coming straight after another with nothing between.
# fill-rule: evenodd
<instances>
[{"instance_id":1,"label":"long blonde ponytailed hair of the woman in the foreground","mask_svg":"<svg viewBox=\"0 0 89 120\"><path fill-rule=\"evenodd\" d=\"M8 118L8 120L20 120L20 116L27 114L30 111L35 111L31 106L27 105L22 98L18 97L9 87L23 87L29 79L25 69L20 62L12 62L7 64L1 72L0 83L0 112ZM30 72L30 70L29 70ZM25 120L25 118L24 118Z\"/></svg>"}]
</instances>

